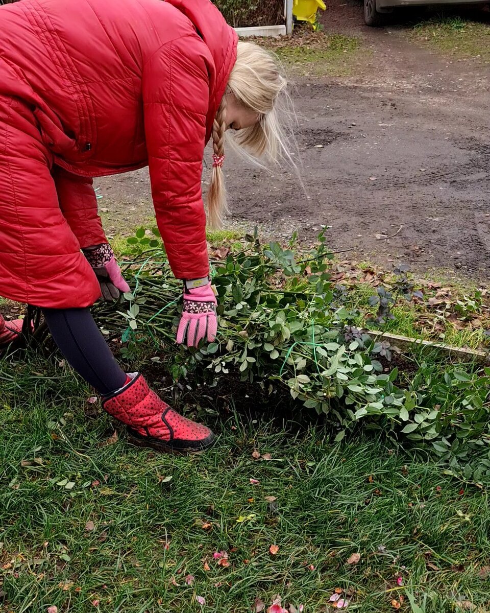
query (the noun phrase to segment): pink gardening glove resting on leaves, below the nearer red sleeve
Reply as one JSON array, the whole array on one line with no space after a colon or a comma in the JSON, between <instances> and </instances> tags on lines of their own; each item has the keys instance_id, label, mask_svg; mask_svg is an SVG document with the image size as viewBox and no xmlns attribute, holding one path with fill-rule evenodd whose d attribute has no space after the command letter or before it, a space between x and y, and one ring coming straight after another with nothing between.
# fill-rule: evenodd
<instances>
[{"instance_id":1,"label":"pink gardening glove resting on leaves, below the nearer red sleeve","mask_svg":"<svg viewBox=\"0 0 490 613\"><path fill-rule=\"evenodd\" d=\"M184 283L184 309L177 330L177 342L188 347L197 347L199 341L207 338L212 343L216 338L218 321L216 317L216 296L211 283L192 287L192 281Z\"/></svg>"}]
</instances>

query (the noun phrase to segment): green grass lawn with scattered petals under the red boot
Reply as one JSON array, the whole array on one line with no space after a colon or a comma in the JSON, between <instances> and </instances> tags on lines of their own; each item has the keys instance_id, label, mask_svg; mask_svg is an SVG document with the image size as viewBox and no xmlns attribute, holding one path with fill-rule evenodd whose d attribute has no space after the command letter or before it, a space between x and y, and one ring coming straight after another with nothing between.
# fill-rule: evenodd
<instances>
[{"instance_id":1,"label":"green grass lawn with scattered petals under the red boot","mask_svg":"<svg viewBox=\"0 0 490 613\"><path fill-rule=\"evenodd\" d=\"M335 588L350 611L489 610L488 494L428 457L333 444L280 410L219 416L205 397L184 409L219 434L205 454L141 451L122 432L104 446L110 418L86 416L92 392L56 359L14 355L0 378L2 611L247 612L278 594L319 613Z\"/></svg>"}]
</instances>

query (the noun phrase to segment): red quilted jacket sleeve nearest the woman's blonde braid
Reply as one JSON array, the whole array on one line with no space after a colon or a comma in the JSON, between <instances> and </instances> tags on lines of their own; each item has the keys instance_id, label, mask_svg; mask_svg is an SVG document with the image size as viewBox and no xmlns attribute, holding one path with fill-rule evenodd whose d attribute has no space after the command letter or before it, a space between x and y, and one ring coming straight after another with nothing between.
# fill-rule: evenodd
<instances>
[{"instance_id":1,"label":"red quilted jacket sleeve nearest the woman's blonde braid","mask_svg":"<svg viewBox=\"0 0 490 613\"><path fill-rule=\"evenodd\" d=\"M179 279L208 275L202 159L209 79L202 41L168 42L143 69L145 136L157 226Z\"/></svg>"}]
</instances>

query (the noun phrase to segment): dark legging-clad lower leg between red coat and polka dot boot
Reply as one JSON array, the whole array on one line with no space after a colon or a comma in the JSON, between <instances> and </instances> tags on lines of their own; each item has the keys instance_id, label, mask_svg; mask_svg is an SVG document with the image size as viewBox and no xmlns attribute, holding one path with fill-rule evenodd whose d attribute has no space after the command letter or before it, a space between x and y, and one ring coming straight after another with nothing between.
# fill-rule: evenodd
<instances>
[{"instance_id":1,"label":"dark legging-clad lower leg between red coat and polka dot boot","mask_svg":"<svg viewBox=\"0 0 490 613\"><path fill-rule=\"evenodd\" d=\"M109 394L124 386L126 373L88 308L43 308L42 312L63 356L97 392Z\"/></svg>"}]
</instances>

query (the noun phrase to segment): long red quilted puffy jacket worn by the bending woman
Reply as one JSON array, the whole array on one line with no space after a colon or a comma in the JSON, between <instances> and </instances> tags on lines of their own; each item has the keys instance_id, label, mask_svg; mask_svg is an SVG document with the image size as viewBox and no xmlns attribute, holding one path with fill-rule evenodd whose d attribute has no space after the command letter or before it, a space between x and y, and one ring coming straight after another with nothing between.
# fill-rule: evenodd
<instances>
[{"instance_id":1,"label":"long red quilted puffy jacket worn by the bending woman","mask_svg":"<svg viewBox=\"0 0 490 613\"><path fill-rule=\"evenodd\" d=\"M105 242L92 177L149 165L178 278L208 274L202 159L236 60L209 0L21 0L0 9L0 295L86 307Z\"/></svg>"}]
</instances>

